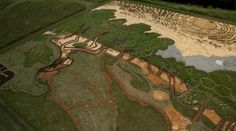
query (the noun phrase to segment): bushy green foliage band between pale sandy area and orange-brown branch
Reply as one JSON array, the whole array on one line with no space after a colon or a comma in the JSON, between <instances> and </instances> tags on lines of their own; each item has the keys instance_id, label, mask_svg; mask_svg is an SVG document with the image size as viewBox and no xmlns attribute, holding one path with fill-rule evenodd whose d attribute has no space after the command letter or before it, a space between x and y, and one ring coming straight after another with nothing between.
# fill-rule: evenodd
<instances>
[{"instance_id":1,"label":"bushy green foliage band between pale sandy area and orange-brown branch","mask_svg":"<svg viewBox=\"0 0 236 131\"><path fill-rule=\"evenodd\" d=\"M86 26L89 26L90 29L84 35L90 39L93 39L99 33L109 31L109 34L103 36L99 42L108 47L123 50L173 73L191 86L199 86L199 90L207 92L216 101L227 104L232 109L231 111L236 109L234 96L232 95L236 92L234 88L236 86L235 72L216 71L206 73L194 67L186 67L183 62L177 62L174 58L165 59L156 56L157 50L167 49L168 45L173 44L173 41L166 38L158 38L158 34L155 33L144 33L150 30L150 27L147 25L134 24L127 26L123 25L125 20L110 21L109 19L112 17L113 12L108 10L89 12L60 25L58 28L73 32L79 25L86 23ZM120 43L112 43L114 39ZM207 78L207 81L201 83L203 78ZM210 86L209 82L211 81L214 81L215 84ZM222 94L222 89L219 89L222 86L229 89L232 93L225 94L224 92ZM209 103L209 105L212 105L212 103ZM218 113L221 114L224 112L223 110ZM225 116L222 113L221 116L228 117L229 115Z\"/></svg>"}]
</instances>

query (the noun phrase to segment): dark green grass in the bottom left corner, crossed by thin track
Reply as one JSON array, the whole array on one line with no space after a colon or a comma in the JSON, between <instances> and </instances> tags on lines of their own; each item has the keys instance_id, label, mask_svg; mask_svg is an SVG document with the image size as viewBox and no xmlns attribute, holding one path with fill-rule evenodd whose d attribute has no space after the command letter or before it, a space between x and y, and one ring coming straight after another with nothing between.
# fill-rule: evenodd
<instances>
[{"instance_id":1,"label":"dark green grass in the bottom left corner, crossed by thin track","mask_svg":"<svg viewBox=\"0 0 236 131\"><path fill-rule=\"evenodd\" d=\"M47 101L46 94L32 96L25 93L14 93L11 91L0 91L0 96L12 109L14 109L24 120L36 130L60 130L75 131L72 120L67 114L55 104ZM9 130L25 130L6 110L0 108L0 123Z\"/></svg>"}]
</instances>

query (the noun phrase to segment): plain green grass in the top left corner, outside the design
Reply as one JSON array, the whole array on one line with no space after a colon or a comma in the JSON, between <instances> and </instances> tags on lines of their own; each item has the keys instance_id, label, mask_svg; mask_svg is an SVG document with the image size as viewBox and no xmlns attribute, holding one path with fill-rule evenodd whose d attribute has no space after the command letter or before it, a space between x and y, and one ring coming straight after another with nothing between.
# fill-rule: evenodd
<instances>
[{"instance_id":1,"label":"plain green grass in the top left corner, outside the design","mask_svg":"<svg viewBox=\"0 0 236 131\"><path fill-rule=\"evenodd\" d=\"M75 0L7 0L0 7L1 49L49 24L86 9L85 5Z\"/></svg>"}]
</instances>

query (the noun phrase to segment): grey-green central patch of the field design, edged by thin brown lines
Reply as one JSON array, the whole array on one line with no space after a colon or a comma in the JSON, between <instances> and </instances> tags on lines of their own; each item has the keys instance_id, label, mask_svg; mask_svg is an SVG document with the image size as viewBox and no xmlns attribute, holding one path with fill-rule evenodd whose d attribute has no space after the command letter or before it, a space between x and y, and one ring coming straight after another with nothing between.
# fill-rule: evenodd
<instances>
[{"instance_id":1,"label":"grey-green central patch of the field design, edged by thin brown lines","mask_svg":"<svg viewBox=\"0 0 236 131\"><path fill-rule=\"evenodd\" d=\"M106 81L100 67L101 54L78 52L71 57L73 64L55 76L55 99L74 106L71 112L80 122L81 130L115 130L117 113L106 93ZM86 108L85 105L92 107Z\"/></svg>"}]
</instances>

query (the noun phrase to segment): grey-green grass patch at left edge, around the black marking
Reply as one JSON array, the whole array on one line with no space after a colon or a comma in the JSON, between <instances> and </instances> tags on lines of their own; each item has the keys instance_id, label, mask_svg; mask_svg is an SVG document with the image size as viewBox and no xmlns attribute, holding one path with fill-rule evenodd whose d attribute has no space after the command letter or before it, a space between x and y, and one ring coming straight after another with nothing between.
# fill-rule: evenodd
<instances>
[{"instance_id":1,"label":"grey-green grass patch at left edge, around the black marking","mask_svg":"<svg viewBox=\"0 0 236 131\"><path fill-rule=\"evenodd\" d=\"M28 41L1 54L1 64L15 73L14 79L2 85L1 89L22 91L32 95L45 93L48 88L45 83L38 80L38 70L55 60L58 55L57 48L45 40Z\"/></svg>"}]
</instances>

